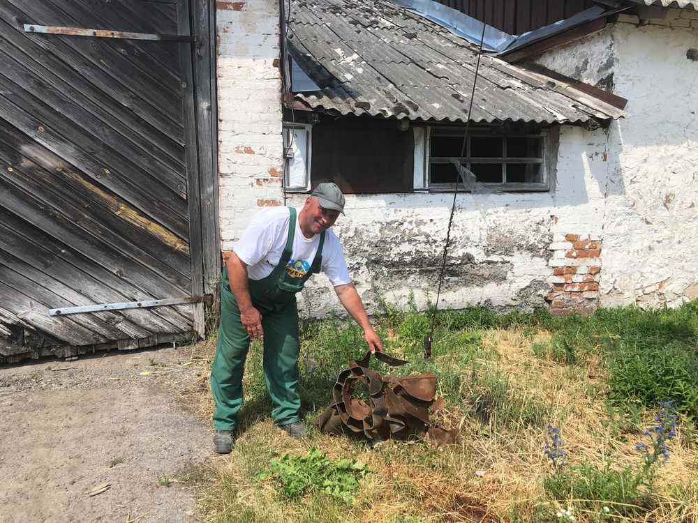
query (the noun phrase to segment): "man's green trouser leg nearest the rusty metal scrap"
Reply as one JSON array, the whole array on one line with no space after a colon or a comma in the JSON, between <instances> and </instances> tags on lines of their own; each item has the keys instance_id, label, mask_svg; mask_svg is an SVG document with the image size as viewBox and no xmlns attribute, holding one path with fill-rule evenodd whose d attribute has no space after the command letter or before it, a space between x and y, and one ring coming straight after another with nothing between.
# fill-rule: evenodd
<instances>
[{"instance_id":1,"label":"man's green trouser leg nearest the rusty metal scrap","mask_svg":"<svg viewBox=\"0 0 698 523\"><path fill-rule=\"evenodd\" d=\"M298 310L295 300L281 312L262 317L264 373L272 397L272 419L279 425L300 420L298 395Z\"/></svg>"}]
</instances>

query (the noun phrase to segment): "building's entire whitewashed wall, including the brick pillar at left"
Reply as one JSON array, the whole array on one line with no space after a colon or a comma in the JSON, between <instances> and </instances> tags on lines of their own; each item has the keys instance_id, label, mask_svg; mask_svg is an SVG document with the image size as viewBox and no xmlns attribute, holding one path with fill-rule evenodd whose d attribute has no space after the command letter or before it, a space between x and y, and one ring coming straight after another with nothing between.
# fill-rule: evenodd
<instances>
[{"instance_id":1,"label":"building's entire whitewashed wall, including the brick pillar at left","mask_svg":"<svg viewBox=\"0 0 698 523\"><path fill-rule=\"evenodd\" d=\"M459 195L440 307L546 305L559 278L554 268L585 269L583 259L551 250L567 235L602 240L604 305L676 305L698 295L698 62L687 59L698 40L691 23L618 23L542 56L544 66L628 98L628 118L608 130L561 126L550 192ZM283 204L278 36L274 1L218 2L224 250L261 206ZM288 205L300 207L304 198L290 195ZM436 298L451 203L448 194L347 197L347 215L334 230L369 312L383 299L405 305L413 296L424 308ZM299 305L306 317L343 314L324 275L310 280Z\"/></svg>"}]
</instances>

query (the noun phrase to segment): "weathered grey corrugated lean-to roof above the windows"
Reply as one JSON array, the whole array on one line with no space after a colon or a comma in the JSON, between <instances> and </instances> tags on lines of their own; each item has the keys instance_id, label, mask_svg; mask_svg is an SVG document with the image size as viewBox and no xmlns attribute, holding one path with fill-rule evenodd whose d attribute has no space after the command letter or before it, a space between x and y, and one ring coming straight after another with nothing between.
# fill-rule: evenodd
<instances>
[{"instance_id":1,"label":"weathered grey corrugated lean-to roof above the windows","mask_svg":"<svg viewBox=\"0 0 698 523\"><path fill-rule=\"evenodd\" d=\"M477 46L382 0L292 0L289 50L321 91L295 93L340 114L466 121ZM584 123L623 111L547 76L482 56L472 121Z\"/></svg>"}]
</instances>

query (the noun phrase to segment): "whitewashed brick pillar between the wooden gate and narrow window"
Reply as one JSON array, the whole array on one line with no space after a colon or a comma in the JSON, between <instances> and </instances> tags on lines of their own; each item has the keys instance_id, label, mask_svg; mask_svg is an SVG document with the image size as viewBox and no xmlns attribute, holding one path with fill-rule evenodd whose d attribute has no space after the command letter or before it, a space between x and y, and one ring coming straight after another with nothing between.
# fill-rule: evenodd
<instances>
[{"instance_id":1,"label":"whitewashed brick pillar between the wooden gate and narrow window","mask_svg":"<svg viewBox=\"0 0 698 523\"><path fill-rule=\"evenodd\" d=\"M223 250L261 206L283 204L279 3L217 1L218 173Z\"/></svg>"}]
</instances>

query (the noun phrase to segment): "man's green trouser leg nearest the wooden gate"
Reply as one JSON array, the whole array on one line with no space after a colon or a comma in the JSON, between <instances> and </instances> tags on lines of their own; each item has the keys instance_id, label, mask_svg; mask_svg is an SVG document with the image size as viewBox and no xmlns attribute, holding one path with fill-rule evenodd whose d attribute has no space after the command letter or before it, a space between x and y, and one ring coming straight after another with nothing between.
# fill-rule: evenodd
<instances>
[{"instance_id":1,"label":"man's green trouser leg nearest the wooden gate","mask_svg":"<svg viewBox=\"0 0 698 523\"><path fill-rule=\"evenodd\" d=\"M250 337L240 321L235 296L221 287L221 326L218 329L216 358L211 368L211 393L216 402L216 430L233 430L242 407L242 373Z\"/></svg>"}]
</instances>

